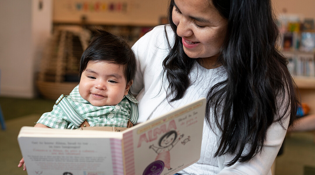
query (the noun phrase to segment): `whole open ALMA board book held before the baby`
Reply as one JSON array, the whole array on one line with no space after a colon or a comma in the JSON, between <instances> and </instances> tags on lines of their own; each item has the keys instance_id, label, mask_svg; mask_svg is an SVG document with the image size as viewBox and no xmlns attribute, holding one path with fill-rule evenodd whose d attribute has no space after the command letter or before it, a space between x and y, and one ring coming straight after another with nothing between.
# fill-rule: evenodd
<instances>
[{"instance_id":1,"label":"whole open ALMA board book held before the baby","mask_svg":"<svg viewBox=\"0 0 315 175\"><path fill-rule=\"evenodd\" d=\"M200 158L206 100L123 132L22 127L28 175L173 175Z\"/></svg>"}]
</instances>

